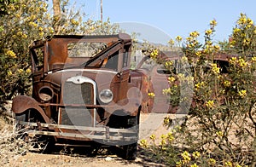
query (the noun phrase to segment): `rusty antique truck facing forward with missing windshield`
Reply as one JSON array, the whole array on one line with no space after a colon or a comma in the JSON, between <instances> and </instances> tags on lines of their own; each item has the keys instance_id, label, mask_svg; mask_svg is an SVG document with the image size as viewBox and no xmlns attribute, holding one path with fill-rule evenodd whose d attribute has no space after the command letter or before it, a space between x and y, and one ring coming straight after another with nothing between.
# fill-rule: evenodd
<instances>
[{"instance_id":1,"label":"rusty antique truck facing forward with missing windshield","mask_svg":"<svg viewBox=\"0 0 256 167\"><path fill-rule=\"evenodd\" d=\"M13 99L19 126L54 143L118 145L123 158L135 159L149 90L147 76L130 68L131 44L125 33L55 35L34 42L32 95Z\"/></svg>"}]
</instances>

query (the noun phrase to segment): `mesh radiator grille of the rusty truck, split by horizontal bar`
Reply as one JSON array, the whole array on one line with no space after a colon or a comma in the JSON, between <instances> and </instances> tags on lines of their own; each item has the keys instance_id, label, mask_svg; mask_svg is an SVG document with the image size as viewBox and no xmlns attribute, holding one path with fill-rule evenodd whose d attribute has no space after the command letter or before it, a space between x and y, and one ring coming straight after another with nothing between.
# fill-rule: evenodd
<instances>
[{"instance_id":1,"label":"mesh radiator grille of the rusty truck, split by horizontal bar","mask_svg":"<svg viewBox=\"0 0 256 167\"><path fill-rule=\"evenodd\" d=\"M93 92L91 83L66 82L63 87L63 102L70 105L93 104ZM61 124L91 126L92 120L92 109L86 107L65 107L61 110Z\"/></svg>"}]
</instances>

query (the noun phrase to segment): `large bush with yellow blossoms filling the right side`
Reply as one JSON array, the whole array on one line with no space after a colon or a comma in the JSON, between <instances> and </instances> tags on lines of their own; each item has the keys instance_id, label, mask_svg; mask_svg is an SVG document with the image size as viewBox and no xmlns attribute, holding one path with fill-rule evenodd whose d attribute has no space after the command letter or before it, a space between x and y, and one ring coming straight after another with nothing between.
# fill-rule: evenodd
<instances>
[{"instance_id":1,"label":"large bush with yellow blossoms filling the right side","mask_svg":"<svg viewBox=\"0 0 256 167\"><path fill-rule=\"evenodd\" d=\"M191 47L191 35L189 41L184 42L187 44L183 50L192 65L192 77L195 80L194 103L189 110L189 119L196 119L197 126L201 127L193 133L189 132L187 121L184 127L185 143L194 146L194 149L199 148L198 146L211 146L212 153L216 156L218 153L234 153L224 155L222 160L218 158L218 161L217 158L210 158L210 165L232 166L241 161L250 164L249 156L244 154L251 152L256 158L256 120L253 117L253 114L256 114L253 109L256 102L256 38L253 33L255 26L253 20L241 14L230 36L230 45L227 49L212 42L216 25L215 20L210 22L210 29L205 31L205 43ZM229 64L224 66L221 64L222 61L214 59L215 55L223 52L232 55L227 61ZM245 151L238 151L241 149Z\"/></svg>"}]
</instances>

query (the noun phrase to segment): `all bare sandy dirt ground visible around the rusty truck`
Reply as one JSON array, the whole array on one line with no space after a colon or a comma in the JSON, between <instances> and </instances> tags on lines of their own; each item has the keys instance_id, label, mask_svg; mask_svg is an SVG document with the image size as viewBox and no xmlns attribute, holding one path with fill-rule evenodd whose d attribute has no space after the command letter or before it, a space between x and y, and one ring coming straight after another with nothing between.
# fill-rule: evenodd
<instances>
[{"instance_id":1,"label":"all bare sandy dirt ground visible around the rusty truck","mask_svg":"<svg viewBox=\"0 0 256 167\"><path fill-rule=\"evenodd\" d=\"M163 119L166 114L150 113L141 114L141 124L140 124L140 140L148 139L150 135L154 134L160 136L166 134L169 130L162 125ZM175 116L172 116L175 117ZM3 118L0 118L0 131L6 122ZM27 152L23 155L17 155L12 160L4 164L6 166L127 166L127 167L137 167L137 166L165 166L160 162L154 162L153 159L145 157L143 155L143 149L138 148L137 159L134 161L127 161L119 158L115 153L109 151L102 151L102 153L97 153L94 156L81 155L79 152L65 153L65 147L55 148L55 152L51 154L42 153L32 153ZM70 149L73 150L73 149Z\"/></svg>"}]
</instances>

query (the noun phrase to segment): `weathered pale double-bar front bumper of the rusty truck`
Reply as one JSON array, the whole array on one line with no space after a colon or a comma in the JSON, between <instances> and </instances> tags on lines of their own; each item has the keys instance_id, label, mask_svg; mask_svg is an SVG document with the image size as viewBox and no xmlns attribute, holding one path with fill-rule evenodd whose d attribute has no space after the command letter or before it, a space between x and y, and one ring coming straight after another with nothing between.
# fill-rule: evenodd
<instances>
[{"instance_id":1,"label":"weathered pale double-bar front bumper of the rusty truck","mask_svg":"<svg viewBox=\"0 0 256 167\"><path fill-rule=\"evenodd\" d=\"M28 135L53 135L56 137L64 137L71 139L89 139L108 141L137 141L138 130L133 129L114 129L106 127L86 127L66 124L41 124L18 121L18 124L29 127L26 131ZM36 130L30 130L36 128ZM55 130L45 131L42 129ZM75 133L61 132L62 130L76 130ZM83 133L85 132L86 133ZM90 131L90 133L88 133Z\"/></svg>"}]
</instances>

